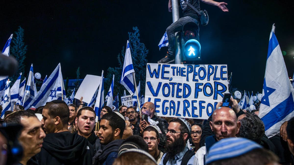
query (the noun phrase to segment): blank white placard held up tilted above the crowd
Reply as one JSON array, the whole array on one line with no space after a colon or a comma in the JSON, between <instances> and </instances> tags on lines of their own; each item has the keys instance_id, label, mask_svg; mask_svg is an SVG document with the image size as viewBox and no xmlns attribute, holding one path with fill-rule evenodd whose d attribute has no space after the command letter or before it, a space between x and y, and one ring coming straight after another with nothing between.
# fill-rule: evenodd
<instances>
[{"instance_id":1,"label":"blank white placard held up tilted above the crowd","mask_svg":"<svg viewBox=\"0 0 294 165\"><path fill-rule=\"evenodd\" d=\"M94 93L100 84L101 76L86 75L81 83L74 98L80 100L83 97L83 102L90 103Z\"/></svg>"}]
</instances>

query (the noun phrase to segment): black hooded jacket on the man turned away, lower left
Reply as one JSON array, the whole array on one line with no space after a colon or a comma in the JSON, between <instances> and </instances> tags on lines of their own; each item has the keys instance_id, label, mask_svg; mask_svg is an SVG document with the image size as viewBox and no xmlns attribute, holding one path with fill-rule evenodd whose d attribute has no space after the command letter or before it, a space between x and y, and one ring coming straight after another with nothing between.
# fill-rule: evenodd
<instances>
[{"instance_id":1,"label":"black hooded jacket on the man turned away, lower left","mask_svg":"<svg viewBox=\"0 0 294 165\"><path fill-rule=\"evenodd\" d=\"M92 164L93 146L78 134L59 132L47 134L38 154L39 164Z\"/></svg>"}]
</instances>

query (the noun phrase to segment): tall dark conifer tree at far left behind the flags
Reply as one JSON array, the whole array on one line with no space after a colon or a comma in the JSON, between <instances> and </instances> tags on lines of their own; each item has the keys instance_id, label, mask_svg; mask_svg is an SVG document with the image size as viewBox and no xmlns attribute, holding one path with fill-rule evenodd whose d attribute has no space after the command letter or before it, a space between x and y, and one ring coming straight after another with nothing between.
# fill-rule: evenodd
<instances>
[{"instance_id":1,"label":"tall dark conifer tree at far left behind the flags","mask_svg":"<svg viewBox=\"0 0 294 165\"><path fill-rule=\"evenodd\" d=\"M18 30L14 32L15 35L12 38L12 44L10 47L10 55L16 58L16 60L19 62L19 70L14 74L14 76L11 78L11 81L14 82L19 76L19 73L22 72L22 75L25 75L24 69L25 64L24 60L26 59L26 51L27 51L27 45L24 43L24 29L19 26ZM24 76L22 76L21 81L24 79ZM11 83L12 85L13 83Z\"/></svg>"}]
</instances>

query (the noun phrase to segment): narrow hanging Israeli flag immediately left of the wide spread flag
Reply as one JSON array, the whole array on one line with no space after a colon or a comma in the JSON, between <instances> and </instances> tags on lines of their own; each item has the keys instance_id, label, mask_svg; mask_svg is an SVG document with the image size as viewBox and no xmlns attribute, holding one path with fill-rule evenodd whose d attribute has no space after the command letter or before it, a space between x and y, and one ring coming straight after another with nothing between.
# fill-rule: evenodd
<instances>
[{"instance_id":1,"label":"narrow hanging Israeli flag immediately left of the wide spread flag","mask_svg":"<svg viewBox=\"0 0 294 165\"><path fill-rule=\"evenodd\" d=\"M23 106L24 106L25 110L29 108L31 101L34 99L34 97L37 95L37 93L38 92L37 92L37 88L36 88L34 70L33 70L33 64L32 64L31 69L30 69L30 73L29 73L28 82L26 83L26 89L24 91Z\"/></svg>"}]
</instances>

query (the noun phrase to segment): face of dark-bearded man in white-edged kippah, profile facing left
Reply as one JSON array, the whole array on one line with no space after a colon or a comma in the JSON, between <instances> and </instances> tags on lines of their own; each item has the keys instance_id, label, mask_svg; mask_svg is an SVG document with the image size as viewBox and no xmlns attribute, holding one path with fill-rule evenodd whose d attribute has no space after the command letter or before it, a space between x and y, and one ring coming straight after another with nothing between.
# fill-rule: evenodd
<instances>
[{"instance_id":1,"label":"face of dark-bearded man in white-edged kippah, profile facing left","mask_svg":"<svg viewBox=\"0 0 294 165\"><path fill-rule=\"evenodd\" d=\"M100 121L100 129L98 131L98 137L100 139L101 144L108 144L114 139L114 132L109 125L109 121L106 119L102 119Z\"/></svg>"}]
</instances>

